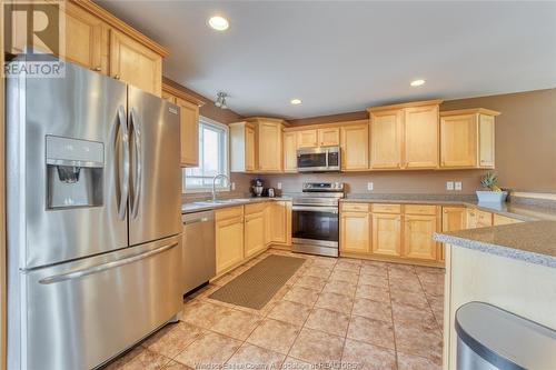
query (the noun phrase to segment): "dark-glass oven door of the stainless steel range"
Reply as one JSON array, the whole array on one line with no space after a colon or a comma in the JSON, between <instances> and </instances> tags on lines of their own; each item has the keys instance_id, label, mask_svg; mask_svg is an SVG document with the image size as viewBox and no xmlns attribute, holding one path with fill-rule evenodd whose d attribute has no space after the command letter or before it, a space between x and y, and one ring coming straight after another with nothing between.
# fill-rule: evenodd
<instances>
[{"instance_id":1,"label":"dark-glass oven door of the stainless steel range","mask_svg":"<svg viewBox=\"0 0 556 370\"><path fill-rule=\"evenodd\" d=\"M338 248L338 208L292 207L292 242Z\"/></svg>"}]
</instances>

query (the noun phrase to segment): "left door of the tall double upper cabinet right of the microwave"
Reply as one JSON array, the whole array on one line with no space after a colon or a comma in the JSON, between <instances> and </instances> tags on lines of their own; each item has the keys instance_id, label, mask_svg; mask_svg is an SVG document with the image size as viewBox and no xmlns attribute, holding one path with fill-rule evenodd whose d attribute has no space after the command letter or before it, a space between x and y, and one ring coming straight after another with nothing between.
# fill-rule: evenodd
<instances>
[{"instance_id":1,"label":"left door of the tall double upper cabinet right of the microwave","mask_svg":"<svg viewBox=\"0 0 556 370\"><path fill-rule=\"evenodd\" d=\"M401 110L370 113L370 168L401 167L403 120Z\"/></svg>"}]
</instances>

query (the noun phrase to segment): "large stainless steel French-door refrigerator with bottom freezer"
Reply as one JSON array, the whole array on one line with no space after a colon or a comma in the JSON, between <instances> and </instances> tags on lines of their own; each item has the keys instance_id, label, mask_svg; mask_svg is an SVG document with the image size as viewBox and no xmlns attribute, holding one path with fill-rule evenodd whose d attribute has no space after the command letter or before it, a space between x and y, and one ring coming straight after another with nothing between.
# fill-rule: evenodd
<instances>
[{"instance_id":1,"label":"large stainless steel French-door refrigerator with bottom freezer","mask_svg":"<svg viewBox=\"0 0 556 370\"><path fill-rule=\"evenodd\" d=\"M7 82L9 369L95 368L182 307L178 108L64 74Z\"/></svg>"}]
</instances>

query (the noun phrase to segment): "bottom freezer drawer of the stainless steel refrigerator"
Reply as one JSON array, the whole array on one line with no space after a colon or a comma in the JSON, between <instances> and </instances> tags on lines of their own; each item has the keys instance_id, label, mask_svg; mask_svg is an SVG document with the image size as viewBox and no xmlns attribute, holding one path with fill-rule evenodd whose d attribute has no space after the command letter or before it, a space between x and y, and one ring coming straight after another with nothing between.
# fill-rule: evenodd
<instances>
[{"instance_id":1,"label":"bottom freezer drawer of the stainless steel refrigerator","mask_svg":"<svg viewBox=\"0 0 556 370\"><path fill-rule=\"evenodd\" d=\"M180 261L177 236L29 272L22 368L91 369L138 342L181 310Z\"/></svg>"}]
</instances>

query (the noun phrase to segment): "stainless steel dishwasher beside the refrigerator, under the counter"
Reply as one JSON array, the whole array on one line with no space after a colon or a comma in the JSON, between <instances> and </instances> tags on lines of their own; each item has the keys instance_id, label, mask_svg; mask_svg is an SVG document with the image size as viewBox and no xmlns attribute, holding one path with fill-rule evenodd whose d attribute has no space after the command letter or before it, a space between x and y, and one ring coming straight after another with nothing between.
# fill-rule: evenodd
<instances>
[{"instance_id":1,"label":"stainless steel dishwasher beside the refrigerator, under the counter","mask_svg":"<svg viewBox=\"0 0 556 370\"><path fill-rule=\"evenodd\" d=\"M215 211L181 216L183 294L216 276Z\"/></svg>"}]
</instances>

